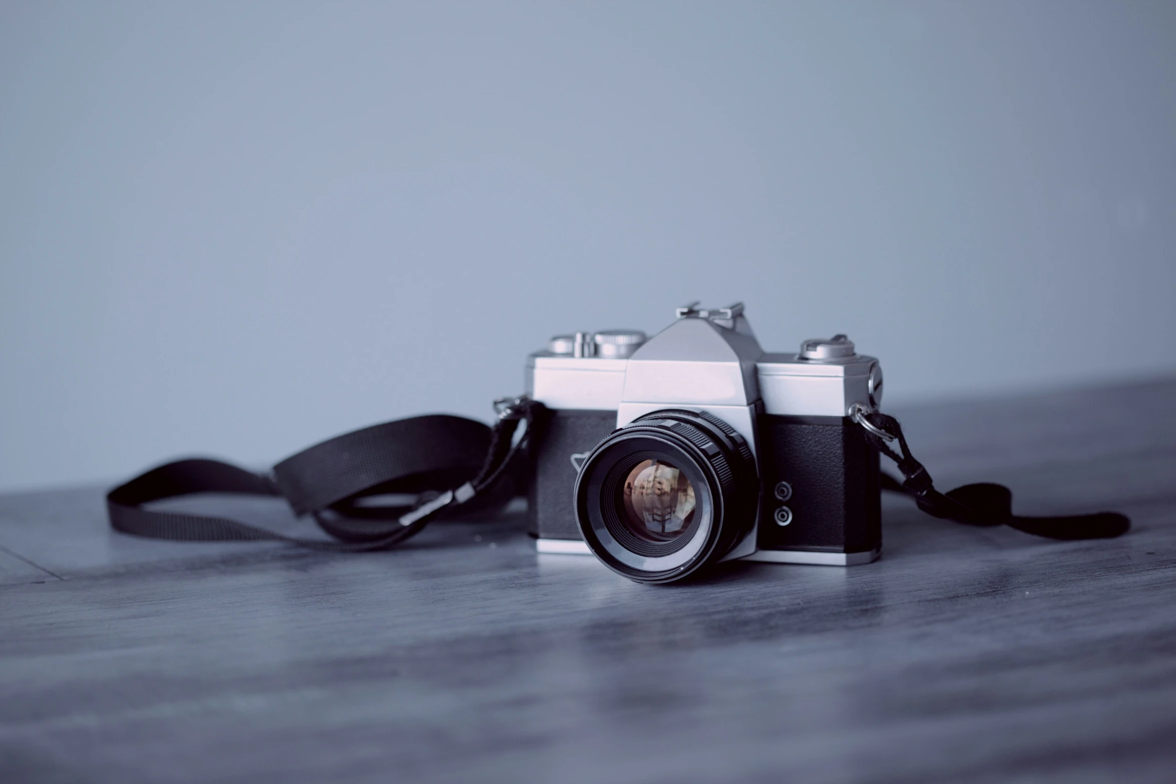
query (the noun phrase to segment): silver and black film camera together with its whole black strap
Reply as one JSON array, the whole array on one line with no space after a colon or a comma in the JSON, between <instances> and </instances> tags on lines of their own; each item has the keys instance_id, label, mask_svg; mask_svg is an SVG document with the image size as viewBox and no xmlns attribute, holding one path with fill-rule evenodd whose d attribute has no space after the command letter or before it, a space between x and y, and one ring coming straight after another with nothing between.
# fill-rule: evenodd
<instances>
[{"instance_id":1,"label":"silver and black film camera together with its whole black strap","mask_svg":"<svg viewBox=\"0 0 1176 784\"><path fill-rule=\"evenodd\" d=\"M1014 515L1003 484L940 492L898 421L877 410L877 360L855 354L844 335L804 341L799 354L766 354L742 304L696 304L679 308L677 321L649 341L623 329L552 339L530 355L528 394L495 401L490 428L446 414L383 422L314 444L266 474L172 461L107 492L111 525L162 540L382 550L450 509L501 505L522 481L540 552L590 552L644 583L735 558L869 563L882 550L883 487L969 525L1054 540L1130 530L1114 511ZM520 453L528 463L515 460ZM901 484L883 477L880 454L895 462ZM281 495L334 541L151 508L194 492ZM370 503L381 497L389 503ZM397 497L409 503L390 501Z\"/></svg>"}]
</instances>

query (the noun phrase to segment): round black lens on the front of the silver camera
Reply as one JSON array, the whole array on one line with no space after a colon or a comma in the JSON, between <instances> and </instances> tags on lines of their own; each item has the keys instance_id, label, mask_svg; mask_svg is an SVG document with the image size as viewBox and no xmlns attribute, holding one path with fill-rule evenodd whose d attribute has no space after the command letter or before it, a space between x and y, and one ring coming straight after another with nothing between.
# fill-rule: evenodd
<instances>
[{"instance_id":1,"label":"round black lens on the front of the silver camera","mask_svg":"<svg viewBox=\"0 0 1176 784\"><path fill-rule=\"evenodd\" d=\"M668 583L727 555L755 525L747 441L700 411L664 409L614 431L576 478L576 523L607 567Z\"/></svg>"}]
</instances>

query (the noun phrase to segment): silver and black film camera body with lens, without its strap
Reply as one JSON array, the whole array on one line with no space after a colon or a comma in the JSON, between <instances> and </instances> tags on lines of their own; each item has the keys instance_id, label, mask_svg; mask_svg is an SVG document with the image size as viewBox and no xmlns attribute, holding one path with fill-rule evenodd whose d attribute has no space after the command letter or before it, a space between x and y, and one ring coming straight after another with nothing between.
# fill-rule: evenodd
<instances>
[{"instance_id":1,"label":"silver and black film camera body with lens, without its strap","mask_svg":"<svg viewBox=\"0 0 1176 784\"><path fill-rule=\"evenodd\" d=\"M851 418L882 370L844 336L764 353L743 306L552 339L527 362L540 552L666 583L735 558L853 565L882 547L878 453Z\"/></svg>"}]
</instances>

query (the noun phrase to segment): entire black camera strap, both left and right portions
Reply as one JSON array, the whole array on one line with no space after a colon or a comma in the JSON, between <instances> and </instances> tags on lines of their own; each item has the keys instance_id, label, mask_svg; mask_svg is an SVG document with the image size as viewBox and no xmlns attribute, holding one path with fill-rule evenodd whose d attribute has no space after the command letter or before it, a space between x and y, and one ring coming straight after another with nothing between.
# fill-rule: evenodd
<instances>
[{"instance_id":1,"label":"entire black camera strap, both left and right portions","mask_svg":"<svg viewBox=\"0 0 1176 784\"><path fill-rule=\"evenodd\" d=\"M460 416L416 416L355 430L298 453L256 474L215 460L181 460L154 468L106 496L111 525L125 534L188 542L281 541L340 551L380 550L423 529L446 511L476 509L509 494L494 489L524 448L543 406L527 397L495 401L493 428ZM1002 484L965 484L940 492L914 458L893 416L858 404L851 417L870 443L902 471L900 484L883 475L882 489L914 496L934 517L969 525L1009 525L1055 540L1110 538L1125 534L1121 514L1021 517ZM517 434L519 425L526 423ZM519 437L515 437L519 435ZM897 442L900 453L890 448ZM296 515L312 515L333 540L307 540L227 517L166 511L152 502L198 492L281 496ZM410 507L370 505L372 496L410 494Z\"/></svg>"}]
</instances>

